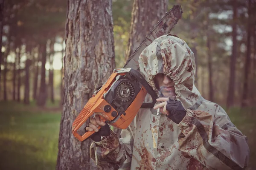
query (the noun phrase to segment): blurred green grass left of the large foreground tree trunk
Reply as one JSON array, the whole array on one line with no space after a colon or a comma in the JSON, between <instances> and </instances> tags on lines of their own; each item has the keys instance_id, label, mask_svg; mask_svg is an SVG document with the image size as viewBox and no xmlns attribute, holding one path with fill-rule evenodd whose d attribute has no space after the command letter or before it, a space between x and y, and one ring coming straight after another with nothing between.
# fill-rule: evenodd
<instances>
[{"instance_id":1,"label":"blurred green grass left of the large foreground tree trunk","mask_svg":"<svg viewBox=\"0 0 256 170\"><path fill-rule=\"evenodd\" d=\"M0 102L0 169L55 169L61 111Z\"/></svg>"}]
</instances>

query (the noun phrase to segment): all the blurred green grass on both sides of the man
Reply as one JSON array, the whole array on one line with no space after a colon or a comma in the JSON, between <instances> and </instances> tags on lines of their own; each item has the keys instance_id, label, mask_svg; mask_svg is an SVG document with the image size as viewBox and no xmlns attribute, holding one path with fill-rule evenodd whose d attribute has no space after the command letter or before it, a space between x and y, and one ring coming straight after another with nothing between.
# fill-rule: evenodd
<instances>
[{"instance_id":1,"label":"all the blurred green grass on both sides of the man","mask_svg":"<svg viewBox=\"0 0 256 170\"><path fill-rule=\"evenodd\" d=\"M61 111L47 102L38 108L17 102L0 102L0 170L54 170L58 154ZM247 170L256 169L255 111L233 108L231 121L248 137L250 162Z\"/></svg>"}]
</instances>

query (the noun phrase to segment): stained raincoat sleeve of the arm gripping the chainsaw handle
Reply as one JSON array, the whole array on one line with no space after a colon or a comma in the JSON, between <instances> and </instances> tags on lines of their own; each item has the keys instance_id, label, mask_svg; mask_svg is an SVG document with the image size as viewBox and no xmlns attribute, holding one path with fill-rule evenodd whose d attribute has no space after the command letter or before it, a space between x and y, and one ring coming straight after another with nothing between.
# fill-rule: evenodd
<instances>
[{"instance_id":1,"label":"stained raincoat sleeve of the arm gripping the chainsaw handle","mask_svg":"<svg viewBox=\"0 0 256 170\"><path fill-rule=\"evenodd\" d=\"M120 139L111 130L111 134L102 137L102 141L93 142L90 158L96 166L105 170L130 170L135 129L136 116L129 127L121 131Z\"/></svg>"}]
</instances>

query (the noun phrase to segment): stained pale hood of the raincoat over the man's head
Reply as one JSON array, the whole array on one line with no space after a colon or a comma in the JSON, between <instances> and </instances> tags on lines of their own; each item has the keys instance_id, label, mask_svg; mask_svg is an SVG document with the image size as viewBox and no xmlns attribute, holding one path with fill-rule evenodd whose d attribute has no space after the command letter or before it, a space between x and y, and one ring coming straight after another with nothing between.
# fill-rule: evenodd
<instances>
[{"instance_id":1,"label":"stained pale hood of the raincoat over the man's head","mask_svg":"<svg viewBox=\"0 0 256 170\"><path fill-rule=\"evenodd\" d=\"M171 34L163 35L146 47L139 57L140 72L158 96L155 75L173 79L176 99L185 108L194 105L201 94L194 85L195 57L186 42Z\"/></svg>"}]
</instances>

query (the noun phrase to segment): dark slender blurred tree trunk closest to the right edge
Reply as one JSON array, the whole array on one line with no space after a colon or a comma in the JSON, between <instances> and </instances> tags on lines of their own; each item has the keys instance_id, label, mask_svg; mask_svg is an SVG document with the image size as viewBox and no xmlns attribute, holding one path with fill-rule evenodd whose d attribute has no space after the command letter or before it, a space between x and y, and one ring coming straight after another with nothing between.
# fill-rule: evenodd
<instances>
[{"instance_id":1,"label":"dark slender blurred tree trunk closest to the right edge","mask_svg":"<svg viewBox=\"0 0 256 170\"><path fill-rule=\"evenodd\" d=\"M248 4L248 21L247 21L247 52L244 65L244 85L243 85L243 95L241 101L241 107L244 108L248 106L248 82L249 82L249 72L250 72L250 55L251 55L251 0Z\"/></svg>"}]
</instances>

